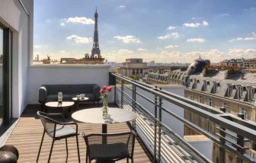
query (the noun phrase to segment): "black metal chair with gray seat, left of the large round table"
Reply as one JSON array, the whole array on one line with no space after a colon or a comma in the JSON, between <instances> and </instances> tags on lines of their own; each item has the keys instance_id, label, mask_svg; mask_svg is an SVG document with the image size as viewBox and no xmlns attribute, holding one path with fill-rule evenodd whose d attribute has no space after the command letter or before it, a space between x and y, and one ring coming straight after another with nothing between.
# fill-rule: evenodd
<instances>
[{"instance_id":1,"label":"black metal chair with gray seat, left of the large round table","mask_svg":"<svg viewBox=\"0 0 256 163\"><path fill-rule=\"evenodd\" d=\"M50 155L48 158L48 162L50 162L50 158L53 152L53 144L54 141L60 139L66 139L66 153L67 158L69 156L68 150L68 142L67 138L75 136L76 137L76 145L78 150L78 161L80 162L80 154L79 154L79 145L78 145L78 124L77 123L65 123L65 118L61 113L43 113L41 111L37 111L38 117L40 117L41 122L43 123L43 137L45 133L48 134L51 138L53 138L52 146L50 149ZM73 129L69 125L75 125L75 129ZM37 162L39 159L40 151L43 144L43 137L40 143L40 149L37 155Z\"/></svg>"}]
</instances>

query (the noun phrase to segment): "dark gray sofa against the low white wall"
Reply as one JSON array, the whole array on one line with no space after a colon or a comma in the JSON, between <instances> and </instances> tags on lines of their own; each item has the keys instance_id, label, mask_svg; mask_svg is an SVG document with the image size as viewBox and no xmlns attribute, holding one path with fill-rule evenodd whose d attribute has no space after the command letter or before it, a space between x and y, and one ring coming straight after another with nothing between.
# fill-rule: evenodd
<instances>
[{"instance_id":1,"label":"dark gray sofa against the low white wall","mask_svg":"<svg viewBox=\"0 0 256 163\"><path fill-rule=\"evenodd\" d=\"M72 101L72 97L76 97L78 94L85 94L91 102L99 102L100 99L100 87L96 84L85 85L42 85L39 88L38 101L42 106L47 101L57 101L58 92L62 92L63 101Z\"/></svg>"}]
</instances>

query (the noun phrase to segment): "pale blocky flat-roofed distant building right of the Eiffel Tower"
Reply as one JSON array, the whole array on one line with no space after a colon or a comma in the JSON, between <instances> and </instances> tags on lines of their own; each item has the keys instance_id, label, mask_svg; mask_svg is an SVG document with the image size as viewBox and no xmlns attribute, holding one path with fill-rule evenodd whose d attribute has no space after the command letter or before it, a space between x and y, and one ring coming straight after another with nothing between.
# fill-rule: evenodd
<instances>
[{"instance_id":1,"label":"pale blocky flat-roofed distant building right of the Eiffel Tower","mask_svg":"<svg viewBox=\"0 0 256 163\"><path fill-rule=\"evenodd\" d=\"M148 73L147 63L143 62L142 59L126 59L126 62L123 62L122 66L117 68L117 72L126 76L134 75L142 78L143 75Z\"/></svg>"}]
</instances>

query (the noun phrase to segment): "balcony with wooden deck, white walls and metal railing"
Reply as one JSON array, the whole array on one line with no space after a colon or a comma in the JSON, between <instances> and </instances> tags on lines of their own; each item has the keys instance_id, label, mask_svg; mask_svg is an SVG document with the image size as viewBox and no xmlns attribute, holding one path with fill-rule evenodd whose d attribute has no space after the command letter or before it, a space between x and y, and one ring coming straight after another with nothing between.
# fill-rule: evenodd
<instances>
[{"instance_id":1,"label":"balcony with wooden deck, white walls and metal railing","mask_svg":"<svg viewBox=\"0 0 256 163\"><path fill-rule=\"evenodd\" d=\"M11 100L8 101L9 108L6 107L10 110L5 110L10 115L5 117L18 118L13 128L9 128L7 133L11 134L4 142L18 148L19 162L35 162L37 159L43 133L43 126L36 116L40 85L88 83L100 86L111 83L114 85L114 93L110 94L109 102L137 114L133 122L108 126L109 133L130 129L137 133L135 162L256 162L250 144L256 142L255 122L191 101L165 91L164 88L146 85L119 74L109 75L109 66L30 65L29 60L33 56L33 1L24 2L3 0L4 5L0 5L0 25L3 25L9 36L4 38L5 56L9 55L13 59L8 59L11 63L10 74L3 71L6 76L12 77L6 80L10 89L5 95ZM173 74L176 79L174 83L181 83L183 75ZM155 80L165 79L165 76L153 77ZM165 83L171 84L170 81ZM177 88L173 91L177 91ZM87 107L97 106L87 104L80 109ZM194 117L203 117L203 124L194 123ZM82 161L85 161L85 142L81 133L101 133L101 125L78 123L78 128L80 155ZM185 128L197 135L187 136ZM67 160L65 143L57 141L53 148L52 162L78 162L75 139L68 141ZM49 149L50 138L46 136L40 162L46 162Z\"/></svg>"}]
</instances>

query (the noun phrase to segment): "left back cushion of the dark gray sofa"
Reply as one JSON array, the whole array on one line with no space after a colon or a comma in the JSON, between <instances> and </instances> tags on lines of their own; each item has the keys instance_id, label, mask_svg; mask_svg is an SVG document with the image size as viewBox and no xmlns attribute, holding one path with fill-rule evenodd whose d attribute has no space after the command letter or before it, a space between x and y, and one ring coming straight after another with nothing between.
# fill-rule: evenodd
<instances>
[{"instance_id":1,"label":"left back cushion of the dark gray sofa","mask_svg":"<svg viewBox=\"0 0 256 163\"><path fill-rule=\"evenodd\" d=\"M62 94L70 94L70 85L46 85L47 94L58 94L59 91Z\"/></svg>"}]
</instances>

